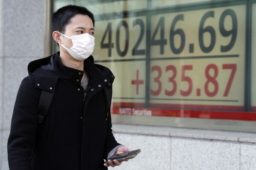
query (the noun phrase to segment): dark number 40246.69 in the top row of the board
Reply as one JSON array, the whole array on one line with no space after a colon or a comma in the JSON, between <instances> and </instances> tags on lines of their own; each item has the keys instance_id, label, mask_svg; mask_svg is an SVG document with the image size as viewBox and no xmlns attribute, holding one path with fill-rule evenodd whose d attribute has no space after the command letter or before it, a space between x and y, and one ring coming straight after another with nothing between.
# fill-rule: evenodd
<instances>
[{"instance_id":1,"label":"dark number 40246.69 in the top row of the board","mask_svg":"<svg viewBox=\"0 0 256 170\"><path fill-rule=\"evenodd\" d=\"M232 19L232 29L226 30L224 27L225 19L227 16L230 16ZM205 26L206 20L209 20L209 18L214 18L215 17L215 12L214 11L209 11L203 14L201 20L200 20L200 25L199 25L199 30L198 30L198 42L200 49L204 53L209 53L212 52L212 50L215 47L216 44L216 32L215 28L213 26ZM170 34L169 34L169 44L171 51L178 55L181 52L183 52L185 48L185 32L182 28L175 28L177 27L177 23L179 22L185 22L185 17L184 14L178 14L177 16L174 17L171 23L171 29L170 29ZM228 52L230 51L234 44L235 40L237 37L237 27L238 27L238 20L236 17L235 12L232 9L226 9L224 12L221 13L221 16L219 18L219 28L218 30L220 31L221 35L223 37L230 37L230 42L227 45L221 45L220 46L220 51L221 52ZM142 40L144 38L144 33L145 33L145 23L141 18L137 18L132 22L132 28L135 26L140 27L140 33L138 36L138 39L134 45L132 45L132 54L131 55L145 55L146 53L146 47L141 47ZM124 29L124 35L121 35L121 29ZM108 23L106 30L103 34L103 37L101 39L100 43L100 48L101 49L108 49L108 56L112 56L112 48L115 47L117 50L117 54L120 57L124 57L127 55L128 49L129 49L129 25L127 21L121 20L118 23L117 29L116 29L116 39L115 39L115 46L114 46L114 40L112 40L112 23ZM160 46L160 54L165 54L165 45L167 45L167 39L165 36L165 17L160 17L159 21L156 25L156 28L152 31L153 35L150 37L150 45L151 46ZM151 31L150 31L151 32ZM204 34L207 33L210 35L210 43L209 46L206 46L204 44ZM194 34L193 32L190 34ZM160 35L158 39L156 39L156 35ZM122 36L122 37L121 37ZM132 35L133 36L133 35ZM180 37L180 44L179 45L174 45L174 37ZM121 38L120 38L121 37ZM121 41L124 42L124 47L121 47ZM194 50L191 49L191 45L189 44L189 52L193 52ZM145 44L146 46L146 44Z\"/></svg>"}]
</instances>

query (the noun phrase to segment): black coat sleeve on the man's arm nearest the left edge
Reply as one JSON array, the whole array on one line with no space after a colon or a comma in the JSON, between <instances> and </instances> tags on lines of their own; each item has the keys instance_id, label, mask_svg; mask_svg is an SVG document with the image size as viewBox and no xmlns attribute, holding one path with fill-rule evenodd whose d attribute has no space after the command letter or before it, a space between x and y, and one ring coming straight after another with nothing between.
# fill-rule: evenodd
<instances>
[{"instance_id":1,"label":"black coat sleeve on the man's arm nearest the left edge","mask_svg":"<svg viewBox=\"0 0 256 170\"><path fill-rule=\"evenodd\" d=\"M21 82L7 144L10 170L32 170L30 156L35 144L40 93L41 90L35 88L33 75L27 76Z\"/></svg>"}]
</instances>

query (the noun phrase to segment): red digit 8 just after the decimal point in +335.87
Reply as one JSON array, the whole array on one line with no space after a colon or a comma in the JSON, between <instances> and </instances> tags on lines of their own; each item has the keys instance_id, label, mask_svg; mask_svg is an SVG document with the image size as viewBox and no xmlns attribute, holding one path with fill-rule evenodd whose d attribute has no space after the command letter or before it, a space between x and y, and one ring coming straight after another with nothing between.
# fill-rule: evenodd
<instances>
[{"instance_id":1,"label":"red digit 8 just after the decimal point in +335.87","mask_svg":"<svg viewBox=\"0 0 256 170\"><path fill-rule=\"evenodd\" d=\"M210 69L214 70L214 75L213 76L211 76L209 74ZM207 81L204 85L204 91L205 91L206 95L208 95L209 97L213 97L218 93L218 89L219 89L218 81L216 81L216 78L218 76L218 67L215 64L209 64L206 67L205 76L207 78ZM213 92L209 91L209 83L212 83L214 85Z\"/></svg>"}]
</instances>

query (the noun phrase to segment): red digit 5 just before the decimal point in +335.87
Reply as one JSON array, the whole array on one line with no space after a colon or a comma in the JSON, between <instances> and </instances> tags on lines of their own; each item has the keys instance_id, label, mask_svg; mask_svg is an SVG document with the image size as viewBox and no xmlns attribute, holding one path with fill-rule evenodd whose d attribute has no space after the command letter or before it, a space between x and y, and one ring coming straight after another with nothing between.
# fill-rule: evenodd
<instances>
[{"instance_id":1,"label":"red digit 5 just before the decimal point in +335.87","mask_svg":"<svg viewBox=\"0 0 256 170\"><path fill-rule=\"evenodd\" d=\"M180 90L180 95L183 96L188 96L191 94L192 92L192 79L188 76L185 76L185 70L192 70L193 66L192 65L185 65L185 66L181 66L181 81L186 81L188 82L188 90L187 91L183 91L182 89Z\"/></svg>"}]
</instances>

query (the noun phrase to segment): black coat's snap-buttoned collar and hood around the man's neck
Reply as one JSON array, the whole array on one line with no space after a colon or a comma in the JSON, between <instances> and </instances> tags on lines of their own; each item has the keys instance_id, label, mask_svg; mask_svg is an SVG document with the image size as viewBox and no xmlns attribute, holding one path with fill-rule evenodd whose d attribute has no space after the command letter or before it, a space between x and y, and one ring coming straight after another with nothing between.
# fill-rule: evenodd
<instances>
[{"instance_id":1,"label":"black coat's snap-buttoned collar and hood around the man's neck","mask_svg":"<svg viewBox=\"0 0 256 170\"><path fill-rule=\"evenodd\" d=\"M94 64L92 56L84 61L84 69L89 77L89 86L93 88L111 87L115 79L112 72L105 66ZM53 91L57 80L67 79L68 81L81 84L83 72L62 64L59 52L47 58L38 59L29 63L29 74L35 76L35 87L47 91ZM39 86L38 86L39 84Z\"/></svg>"}]
</instances>

